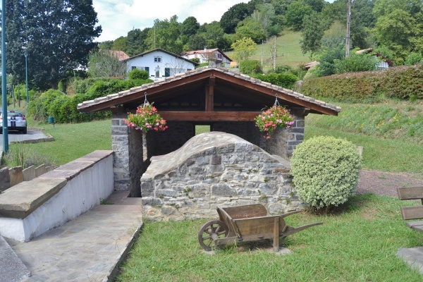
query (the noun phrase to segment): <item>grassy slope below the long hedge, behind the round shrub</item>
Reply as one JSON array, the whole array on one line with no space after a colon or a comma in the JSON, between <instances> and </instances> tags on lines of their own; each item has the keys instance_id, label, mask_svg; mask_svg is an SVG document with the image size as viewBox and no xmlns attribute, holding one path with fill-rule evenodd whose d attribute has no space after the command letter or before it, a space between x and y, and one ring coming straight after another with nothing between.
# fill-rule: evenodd
<instances>
[{"instance_id":1,"label":"grassy slope below the long hedge, behind the round shrub","mask_svg":"<svg viewBox=\"0 0 423 282\"><path fill-rule=\"evenodd\" d=\"M339 116L306 117L305 139L317 135L344 138L364 147L364 168L423 176L421 104L334 104L342 108ZM412 135L410 128L416 128Z\"/></svg>"}]
</instances>

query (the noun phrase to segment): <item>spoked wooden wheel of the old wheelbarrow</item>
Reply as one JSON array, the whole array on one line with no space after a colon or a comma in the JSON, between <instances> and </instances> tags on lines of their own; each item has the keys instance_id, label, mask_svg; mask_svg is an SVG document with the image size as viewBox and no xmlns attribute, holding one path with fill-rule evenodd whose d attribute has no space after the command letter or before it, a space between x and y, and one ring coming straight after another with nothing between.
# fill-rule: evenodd
<instances>
[{"instance_id":1,"label":"spoked wooden wheel of the old wheelbarrow","mask_svg":"<svg viewBox=\"0 0 423 282\"><path fill-rule=\"evenodd\" d=\"M198 242L204 250L212 251L216 247L214 240L225 238L228 232L228 226L223 221L209 221L198 231Z\"/></svg>"}]
</instances>

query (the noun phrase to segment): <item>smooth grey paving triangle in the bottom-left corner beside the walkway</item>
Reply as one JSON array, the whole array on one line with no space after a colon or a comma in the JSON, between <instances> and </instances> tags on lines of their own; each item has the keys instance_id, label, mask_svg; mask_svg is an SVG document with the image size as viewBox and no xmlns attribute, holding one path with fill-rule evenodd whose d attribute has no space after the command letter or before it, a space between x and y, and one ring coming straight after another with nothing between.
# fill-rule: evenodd
<instances>
[{"instance_id":1,"label":"smooth grey paving triangle in the bottom-left corner beside the walkway","mask_svg":"<svg viewBox=\"0 0 423 282\"><path fill-rule=\"evenodd\" d=\"M1 281L22 281L31 276L27 266L19 259L10 245L0 235L0 277Z\"/></svg>"}]
</instances>

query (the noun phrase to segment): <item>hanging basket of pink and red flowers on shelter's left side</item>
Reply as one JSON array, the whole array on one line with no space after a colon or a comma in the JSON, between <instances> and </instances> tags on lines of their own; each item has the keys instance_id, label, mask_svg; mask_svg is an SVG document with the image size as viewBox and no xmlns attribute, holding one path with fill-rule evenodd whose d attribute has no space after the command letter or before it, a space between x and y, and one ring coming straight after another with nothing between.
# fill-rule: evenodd
<instances>
[{"instance_id":1,"label":"hanging basket of pink and red flowers on shelter's left side","mask_svg":"<svg viewBox=\"0 0 423 282\"><path fill-rule=\"evenodd\" d=\"M164 131L168 128L166 120L161 118L157 113L156 107L146 102L142 106L137 107L135 114L128 113L128 118L125 118L125 123L130 128L135 130L142 130L147 133L149 130Z\"/></svg>"}]
</instances>

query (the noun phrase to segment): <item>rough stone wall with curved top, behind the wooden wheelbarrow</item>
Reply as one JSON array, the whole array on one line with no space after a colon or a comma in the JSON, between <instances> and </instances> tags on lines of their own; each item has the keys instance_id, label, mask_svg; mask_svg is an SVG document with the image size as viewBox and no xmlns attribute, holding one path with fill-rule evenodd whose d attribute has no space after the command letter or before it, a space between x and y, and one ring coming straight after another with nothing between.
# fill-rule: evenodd
<instances>
[{"instance_id":1,"label":"rough stone wall with curved top, behind the wooden wheelbarrow","mask_svg":"<svg viewBox=\"0 0 423 282\"><path fill-rule=\"evenodd\" d=\"M192 137L153 157L141 178L144 215L153 220L216 217L216 206L261 202L270 213L304 207L290 185L288 161L221 132Z\"/></svg>"}]
</instances>

